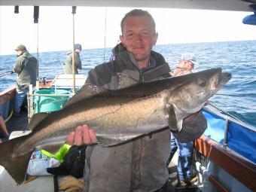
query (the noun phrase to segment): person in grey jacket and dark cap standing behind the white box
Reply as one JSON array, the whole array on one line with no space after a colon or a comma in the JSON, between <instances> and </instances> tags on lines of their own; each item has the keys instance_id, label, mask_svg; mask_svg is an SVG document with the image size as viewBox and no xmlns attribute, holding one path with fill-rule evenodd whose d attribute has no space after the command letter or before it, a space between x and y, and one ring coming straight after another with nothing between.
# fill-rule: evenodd
<instances>
[{"instance_id":1,"label":"person in grey jacket and dark cap standing behind the white box","mask_svg":"<svg viewBox=\"0 0 256 192\"><path fill-rule=\"evenodd\" d=\"M78 74L78 69L82 69L81 59L80 59L80 52L82 50L81 44L75 44L74 45L74 57L75 57L75 74ZM64 71L66 74L72 74L73 73L73 67L72 67L72 51L68 53L66 62L63 63Z\"/></svg>"}]
</instances>

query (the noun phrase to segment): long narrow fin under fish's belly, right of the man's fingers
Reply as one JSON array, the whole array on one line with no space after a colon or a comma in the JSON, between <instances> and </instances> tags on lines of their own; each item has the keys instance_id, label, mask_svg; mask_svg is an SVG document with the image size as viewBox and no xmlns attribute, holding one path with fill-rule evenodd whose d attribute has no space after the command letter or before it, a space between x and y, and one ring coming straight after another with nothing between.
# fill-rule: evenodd
<instances>
[{"instance_id":1,"label":"long narrow fin under fish's belly, right of the man's fingers","mask_svg":"<svg viewBox=\"0 0 256 192\"><path fill-rule=\"evenodd\" d=\"M117 138L117 137L111 138L109 136L108 137L106 137L106 136L96 136L96 139L97 139L97 143L99 145L101 145L102 147L109 147L109 146L112 146L112 145L118 145L120 143L127 142L130 139L134 139L138 136L141 136L141 134L140 135L134 135L134 136L130 137L129 139L127 139L125 136L122 136L122 138Z\"/></svg>"}]
</instances>

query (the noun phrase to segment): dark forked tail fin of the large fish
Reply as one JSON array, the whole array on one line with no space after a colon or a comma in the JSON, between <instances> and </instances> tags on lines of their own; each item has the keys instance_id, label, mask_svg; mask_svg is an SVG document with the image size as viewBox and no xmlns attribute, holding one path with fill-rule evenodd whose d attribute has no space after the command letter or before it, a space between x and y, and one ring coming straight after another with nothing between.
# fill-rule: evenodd
<instances>
[{"instance_id":1,"label":"dark forked tail fin of the large fish","mask_svg":"<svg viewBox=\"0 0 256 192\"><path fill-rule=\"evenodd\" d=\"M17 137L0 144L0 165L5 167L17 184L22 184L25 180L29 160L32 152L34 151L33 149L31 151L24 151L20 156L13 153L14 148L17 148L17 146L20 145L26 137L29 136Z\"/></svg>"}]
</instances>

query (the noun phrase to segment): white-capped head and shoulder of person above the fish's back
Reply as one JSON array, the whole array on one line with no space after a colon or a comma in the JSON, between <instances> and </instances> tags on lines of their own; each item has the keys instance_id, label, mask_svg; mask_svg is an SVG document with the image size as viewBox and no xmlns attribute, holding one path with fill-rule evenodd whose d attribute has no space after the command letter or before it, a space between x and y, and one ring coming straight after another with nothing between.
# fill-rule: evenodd
<instances>
[{"instance_id":1,"label":"white-capped head and shoulder of person above the fish's back","mask_svg":"<svg viewBox=\"0 0 256 192\"><path fill-rule=\"evenodd\" d=\"M194 66L197 65L197 57L194 53L183 53L181 54L181 59L178 62L178 66L174 70L174 72L171 73L173 77L180 76L180 75L186 75L190 73Z\"/></svg>"}]
</instances>

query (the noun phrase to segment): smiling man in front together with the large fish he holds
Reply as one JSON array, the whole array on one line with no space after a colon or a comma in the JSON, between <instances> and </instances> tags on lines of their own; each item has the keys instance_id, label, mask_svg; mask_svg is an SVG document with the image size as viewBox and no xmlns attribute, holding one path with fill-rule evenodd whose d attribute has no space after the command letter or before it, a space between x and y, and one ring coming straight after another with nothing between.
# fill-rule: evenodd
<instances>
[{"instance_id":1,"label":"smiling man in front together with the large fish he holds","mask_svg":"<svg viewBox=\"0 0 256 192\"><path fill-rule=\"evenodd\" d=\"M157 32L147 11L130 11L121 30L123 50L113 62L91 70L59 111L34 114L32 133L0 145L0 165L17 184L33 151L53 154L68 142L88 145L84 191L166 190L169 130L180 142L199 138L206 130L201 109L231 75L208 69L169 78L168 63L151 50Z\"/></svg>"}]
</instances>

